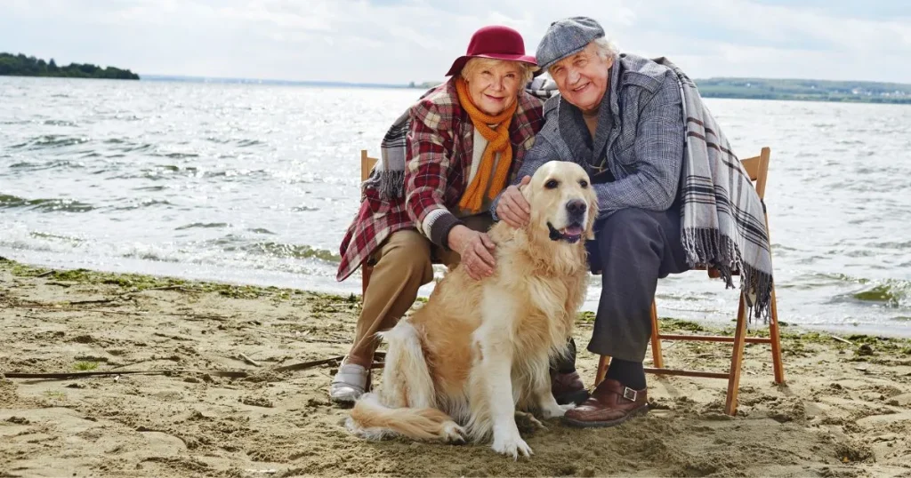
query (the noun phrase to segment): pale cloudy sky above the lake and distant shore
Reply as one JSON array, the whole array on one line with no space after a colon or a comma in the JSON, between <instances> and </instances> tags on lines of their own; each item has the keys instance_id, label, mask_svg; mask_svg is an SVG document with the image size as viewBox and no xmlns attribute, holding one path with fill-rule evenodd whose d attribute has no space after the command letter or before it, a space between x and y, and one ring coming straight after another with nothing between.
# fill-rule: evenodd
<instances>
[{"instance_id":1,"label":"pale cloudy sky above the lake and distant shore","mask_svg":"<svg viewBox=\"0 0 911 478\"><path fill-rule=\"evenodd\" d=\"M574 15L693 78L911 83L908 0L0 0L0 52L140 75L420 83L481 26L516 28L533 55Z\"/></svg>"}]
</instances>

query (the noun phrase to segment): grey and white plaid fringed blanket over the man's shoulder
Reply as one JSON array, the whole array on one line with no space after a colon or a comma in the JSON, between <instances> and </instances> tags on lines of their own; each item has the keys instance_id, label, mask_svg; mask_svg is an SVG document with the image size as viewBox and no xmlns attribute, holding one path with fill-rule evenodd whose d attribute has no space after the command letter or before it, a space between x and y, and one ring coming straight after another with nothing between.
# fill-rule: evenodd
<instances>
[{"instance_id":1,"label":"grey and white plaid fringed blanket over the man's shoulder","mask_svg":"<svg viewBox=\"0 0 911 478\"><path fill-rule=\"evenodd\" d=\"M687 137L680 194L687 259L691 267L719 270L731 288L732 271L739 271L747 305L755 317L767 319L773 278L765 206L696 85L667 58L655 61L677 75L683 97Z\"/></svg>"}]
</instances>

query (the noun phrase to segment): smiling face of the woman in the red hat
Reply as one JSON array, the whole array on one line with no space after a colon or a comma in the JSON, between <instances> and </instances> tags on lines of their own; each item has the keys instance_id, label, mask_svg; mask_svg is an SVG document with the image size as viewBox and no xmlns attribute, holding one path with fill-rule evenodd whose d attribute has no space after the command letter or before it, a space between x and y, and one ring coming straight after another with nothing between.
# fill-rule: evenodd
<instances>
[{"instance_id":1,"label":"smiling face of the woman in the red hat","mask_svg":"<svg viewBox=\"0 0 911 478\"><path fill-rule=\"evenodd\" d=\"M471 100L487 115L499 115L516 102L522 73L513 62L485 62L466 78Z\"/></svg>"}]
</instances>

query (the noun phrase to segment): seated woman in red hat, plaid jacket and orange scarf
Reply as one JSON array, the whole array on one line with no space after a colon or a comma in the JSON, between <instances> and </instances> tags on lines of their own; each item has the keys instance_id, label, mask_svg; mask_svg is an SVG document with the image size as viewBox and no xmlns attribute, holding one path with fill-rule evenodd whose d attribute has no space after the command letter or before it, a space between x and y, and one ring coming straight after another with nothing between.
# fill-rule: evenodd
<instances>
[{"instance_id":1,"label":"seated woman in red hat, plaid jacket and orange scarf","mask_svg":"<svg viewBox=\"0 0 911 478\"><path fill-rule=\"evenodd\" d=\"M455 59L443 85L410 107L384 137L383 158L363 185L344 236L338 280L374 266L354 343L330 398L353 402L368 387L378 345L434 278L431 263L460 260L479 279L493 273L487 209L509 184L543 123L524 86L537 64L519 33L486 26Z\"/></svg>"}]
</instances>

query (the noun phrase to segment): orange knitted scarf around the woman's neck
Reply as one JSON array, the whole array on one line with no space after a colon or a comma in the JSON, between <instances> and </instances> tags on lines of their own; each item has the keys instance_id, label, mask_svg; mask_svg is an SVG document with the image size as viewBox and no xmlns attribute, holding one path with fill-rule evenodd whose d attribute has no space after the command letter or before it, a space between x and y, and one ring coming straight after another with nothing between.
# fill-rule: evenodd
<instances>
[{"instance_id":1,"label":"orange knitted scarf around the woman's neck","mask_svg":"<svg viewBox=\"0 0 911 478\"><path fill-rule=\"evenodd\" d=\"M484 204L485 188L489 182L490 187L486 189L487 198L496 198L503 188L507 186L507 175L509 166L512 164L512 145L509 144L509 124L516 113L518 101L514 101L512 106L507 107L502 113L492 117L487 115L471 101L468 94L468 84L465 78L455 80L455 89L458 91L459 104L466 110L471 122L475 125L481 136L487 140L487 147L484 149L484 155L481 157L481 164L477 168L475 179L471 181L465 194L459 200L459 208L468 210L472 213L480 211ZM496 125L496 128L488 125ZM500 160L496 164L494 171L494 158L496 153L500 153ZM493 176L493 180L491 180Z\"/></svg>"}]
</instances>

